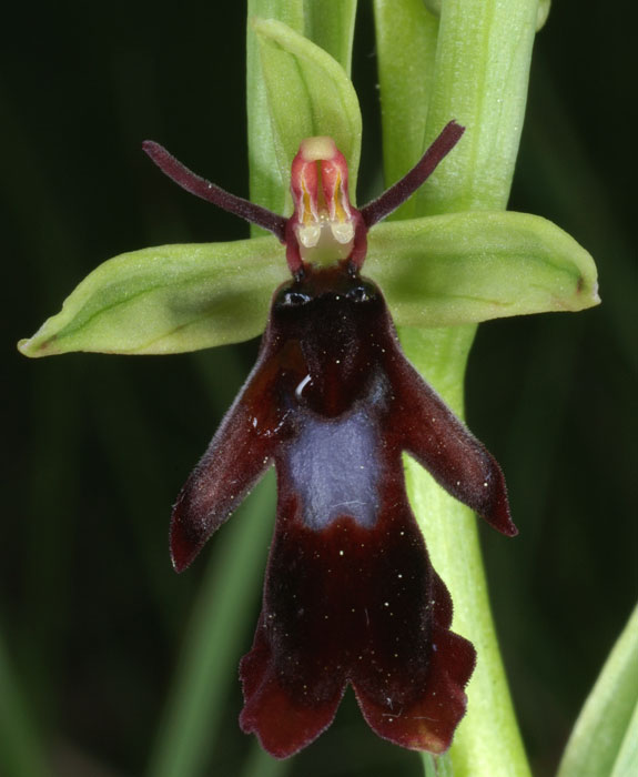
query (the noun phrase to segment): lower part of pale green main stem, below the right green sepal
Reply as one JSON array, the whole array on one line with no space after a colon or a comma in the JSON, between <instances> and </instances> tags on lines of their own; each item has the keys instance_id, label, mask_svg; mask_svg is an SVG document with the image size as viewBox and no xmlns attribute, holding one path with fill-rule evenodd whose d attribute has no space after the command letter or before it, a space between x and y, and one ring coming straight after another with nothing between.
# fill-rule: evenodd
<instances>
[{"instance_id":1,"label":"lower part of pale green main stem, below the right green sepal","mask_svg":"<svg viewBox=\"0 0 638 777\"><path fill-rule=\"evenodd\" d=\"M402 344L413 364L459 415L463 381L457 375L465 372L474 332L474 326L402 331ZM452 594L454 630L468 637L477 652L467 715L449 754L454 775L528 775L489 609L476 517L412 461L406 461L406 481L434 568ZM507 542L497 536L493 541Z\"/></svg>"}]
</instances>

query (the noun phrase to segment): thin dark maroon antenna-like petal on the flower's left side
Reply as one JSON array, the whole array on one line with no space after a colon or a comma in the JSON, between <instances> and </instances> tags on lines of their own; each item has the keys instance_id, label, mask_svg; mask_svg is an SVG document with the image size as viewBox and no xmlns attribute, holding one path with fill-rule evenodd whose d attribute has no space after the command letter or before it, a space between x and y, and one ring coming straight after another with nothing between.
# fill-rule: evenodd
<instances>
[{"instance_id":1,"label":"thin dark maroon antenna-like petal on the flower's left side","mask_svg":"<svg viewBox=\"0 0 638 777\"><path fill-rule=\"evenodd\" d=\"M287 221L284 216L273 213L273 211L270 211L267 208L255 205L249 200L231 194L214 183L210 183L200 175L196 175L169 153L163 145L155 143L153 140L145 140L142 143L142 149L149 154L158 168L178 185L182 186L182 189L185 189L188 192L202 200L206 200L206 202L212 202L224 211L229 211L245 221L250 221L252 224L269 230L269 232L272 232L282 243L284 242Z\"/></svg>"}]
</instances>

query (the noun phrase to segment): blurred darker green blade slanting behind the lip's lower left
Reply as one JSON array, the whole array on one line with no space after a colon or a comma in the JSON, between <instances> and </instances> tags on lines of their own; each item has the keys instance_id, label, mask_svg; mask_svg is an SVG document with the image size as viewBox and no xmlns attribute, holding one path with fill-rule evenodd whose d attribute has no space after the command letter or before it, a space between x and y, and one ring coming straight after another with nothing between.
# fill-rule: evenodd
<instances>
[{"instance_id":1,"label":"blurred darker green blade slanting behind the lip's lower left","mask_svg":"<svg viewBox=\"0 0 638 777\"><path fill-rule=\"evenodd\" d=\"M272 533L271 472L222 528L192 615L166 715L151 757L151 777L203 775L211 733L219 731L237 656L257 605ZM239 712L239 710L237 710Z\"/></svg>"}]
</instances>

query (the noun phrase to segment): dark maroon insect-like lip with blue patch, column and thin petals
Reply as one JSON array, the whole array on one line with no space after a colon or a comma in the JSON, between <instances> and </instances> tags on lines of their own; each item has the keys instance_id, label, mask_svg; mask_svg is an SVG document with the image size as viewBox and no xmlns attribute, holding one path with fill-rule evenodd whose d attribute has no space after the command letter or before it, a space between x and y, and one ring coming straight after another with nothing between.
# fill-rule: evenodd
<instances>
[{"instance_id":1,"label":"dark maroon insect-like lip with blue patch, column and thin petals","mask_svg":"<svg viewBox=\"0 0 638 777\"><path fill-rule=\"evenodd\" d=\"M503 473L403 355L378 286L362 278L367 231L463 134L450 122L417 165L361 210L330 138L302 142L285 219L144 150L188 191L273 232L292 281L276 290L257 363L173 509L178 572L274 463L279 503L263 606L242 659L240 723L275 757L333 720L352 685L368 725L443 753L475 665L409 507L405 451L494 528L516 534ZM388 258L389 260L389 258Z\"/></svg>"}]
</instances>

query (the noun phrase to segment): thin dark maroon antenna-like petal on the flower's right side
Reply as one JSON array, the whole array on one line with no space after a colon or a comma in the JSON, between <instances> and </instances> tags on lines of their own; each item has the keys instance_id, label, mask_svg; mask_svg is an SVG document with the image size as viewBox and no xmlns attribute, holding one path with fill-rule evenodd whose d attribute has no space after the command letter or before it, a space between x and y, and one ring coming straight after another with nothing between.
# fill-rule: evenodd
<instances>
[{"instance_id":1,"label":"thin dark maroon antenna-like petal on the flower's right side","mask_svg":"<svg viewBox=\"0 0 638 777\"><path fill-rule=\"evenodd\" d=\"M465 128L450 121L446 124L427 151L414 168L399 181L387 189L381 196L361 209L361 214L369 229L382 219L385 219L393 211L414 194L414 192L432 175L438 163L447 157L460 140Z\"/></svg>"}]
</instances>

